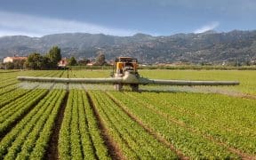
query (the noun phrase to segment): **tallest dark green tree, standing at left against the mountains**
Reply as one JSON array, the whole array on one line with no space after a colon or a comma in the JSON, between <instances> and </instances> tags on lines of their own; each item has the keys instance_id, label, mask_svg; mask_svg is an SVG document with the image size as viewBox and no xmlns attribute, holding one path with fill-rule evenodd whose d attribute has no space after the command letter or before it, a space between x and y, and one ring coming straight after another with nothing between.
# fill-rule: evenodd
<instances>
[{"instance_id":1,"label":"tallest dark green tree, standing at left against the mountains","mask_svg":"<svg viewBox=\"0 0 256 160\"><path fill-rule=\"evenodd\" d=\"M46 56L50 60L50 67L57 68L58 62L61 60L60 48L58 46L52 46Z\"/></svg>"}]
</instances>

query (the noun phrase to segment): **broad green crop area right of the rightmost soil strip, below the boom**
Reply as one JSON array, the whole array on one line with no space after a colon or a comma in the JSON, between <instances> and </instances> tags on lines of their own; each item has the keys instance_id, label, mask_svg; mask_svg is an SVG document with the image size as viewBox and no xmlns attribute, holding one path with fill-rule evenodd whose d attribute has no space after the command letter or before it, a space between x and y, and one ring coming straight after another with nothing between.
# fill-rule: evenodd
<instances>
[{"instance_id":1,"label":"broad green crop area right of the rightmost soil strip, below the boom","mask_svg":"<svg viewBox=\"0 0 256 160\"><path fill-rule=\"evenodd\" d=\"M199 93L131 92L127 95L186 124L194 131L244 153L256 154L255 100Z\"/></svg>"}]
</instances>

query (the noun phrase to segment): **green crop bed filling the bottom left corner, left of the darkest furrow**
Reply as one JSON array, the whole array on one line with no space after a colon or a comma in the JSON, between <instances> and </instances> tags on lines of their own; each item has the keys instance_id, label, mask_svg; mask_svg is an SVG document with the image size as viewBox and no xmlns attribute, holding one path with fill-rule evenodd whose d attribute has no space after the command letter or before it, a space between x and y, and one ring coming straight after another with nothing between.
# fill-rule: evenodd
<instances>
[{"instance_id":1,"label":"green crop bed filling the bottom left corner, left of the darkest furrow","mask_svg":"<svg viewBox=\"0 0 256 160\"><path fill-rule=\"evenodd\" d=\"M65 91L49 92L0 141L0 159L42 159Z\"/></svg>"}]
</instances>

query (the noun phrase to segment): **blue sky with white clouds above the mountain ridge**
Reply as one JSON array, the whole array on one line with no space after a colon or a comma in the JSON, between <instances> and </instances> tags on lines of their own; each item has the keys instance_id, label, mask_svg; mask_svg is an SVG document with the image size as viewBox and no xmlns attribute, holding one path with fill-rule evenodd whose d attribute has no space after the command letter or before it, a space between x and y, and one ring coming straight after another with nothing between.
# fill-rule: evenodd
<instances>
[{"instance_id":1,"label":"blue sky with white clouds above the mountain ridge","mask_svg":"<svg viewBox=\"0 0 256 160\"><path fill-rule=\"evenodd\" d=\"M0 36L253 30L256 0L1 0Z\"/></svg>"}]
</instances>

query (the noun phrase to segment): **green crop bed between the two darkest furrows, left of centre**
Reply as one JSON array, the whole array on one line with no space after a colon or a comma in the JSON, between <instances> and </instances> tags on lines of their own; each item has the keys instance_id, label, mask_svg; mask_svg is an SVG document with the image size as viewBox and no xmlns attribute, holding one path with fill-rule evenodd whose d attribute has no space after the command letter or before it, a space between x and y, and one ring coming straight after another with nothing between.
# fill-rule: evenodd
<instances>
[{"instance_id":1,"label":"green crop bed between the two darkest furrows, left of centre","mask_svg":"<svg viewBox=\"0 0 256 160\"><path fill-rule=\"evenodd\" d=\"M60 128L60 159L108 159L84 91L71 90Z\"/></svg>"}]
</instances>

